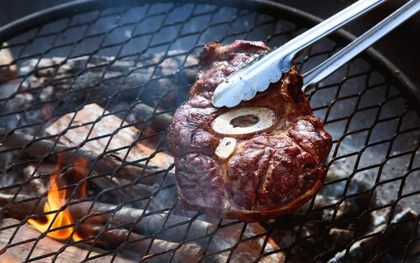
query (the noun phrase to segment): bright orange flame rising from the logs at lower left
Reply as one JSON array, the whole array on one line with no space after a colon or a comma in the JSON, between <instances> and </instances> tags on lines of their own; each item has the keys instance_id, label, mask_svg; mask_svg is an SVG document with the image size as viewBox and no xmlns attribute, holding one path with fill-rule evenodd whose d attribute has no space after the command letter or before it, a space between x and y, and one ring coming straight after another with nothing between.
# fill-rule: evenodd
<instances>
[{"instance_id":1,"label":"bright orange flame rising from the logs at lower left","mask_svg":"<svg viewBox=\"0 0 420 263\"><path fill-rule=\"evenodd\" d=\"M66 194L67 191L66 189L64 190L58 190L57 188L59 187L59 185L57 184L57 179L59 176L59 169L60 169L60 157L58 159L58 164L57 164L57 169L55 171L55 174L53 174L50 177L50 190L48 190L48 201L45 203L45 206L43 208L43 211L49 212L49 211L58 211L60 208L62 208L62 206L64 206L64 204L66 204ZM80 178L80 176L85 176L85 171L86 171L86 165L87 162L83 161L83 162L78 162L78 166L75 167L74 171L76 171L77 177ZM82 186L80 187L80 195L82 198L85 198L87 196L86 194L86 182L83 182ZM55 216L57 215L57 217L55 218ZM54 220L55 218L55 220ZM63 229L56 229L57 227L62 227L62 226L66 226L66 225L71 225L73 224L74 220L73 218L71 218L71 215L69 213L69 211L67 209L65 209L64 211L60 211L57 213L51 213L48 215L45 215L45 220L34 220L34 219L29 219L28 223L30 225L33 225L39 232L46 232L48 230L48 227L50 227L51 223L51 227L50 230L52 230L52 232L49 232L47 234L47 236L53 238L53 239L68 239L69 236L71 235L71 233L73 232L73 228L74 227L66 227ZM83 238L81 238L77 232L73 234L72 236L74 241L80 241L83 240Z\"/></svg>"}]
</instances>

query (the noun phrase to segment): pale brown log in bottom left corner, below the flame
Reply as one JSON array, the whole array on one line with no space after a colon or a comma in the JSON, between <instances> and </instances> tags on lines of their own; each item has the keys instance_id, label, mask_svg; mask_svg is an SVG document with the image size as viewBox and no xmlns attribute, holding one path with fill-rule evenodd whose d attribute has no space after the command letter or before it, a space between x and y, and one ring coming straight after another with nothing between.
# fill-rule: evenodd
<instances>
[{"instance_id":1,"label":"pale brown log in bottom left corner, below the flame","mask_svg":"<svg viewBox=\"0 0 420 263\"><path fill-rule=\"evenodd\" d=\"M63 243L55 241L54 239L50 239L48 236L41 238L36 244L34 251L31 252L30 248L34 246L34 240L37 239L41 233L31 225L25 224L20 226L18 233L14 235L16 226L20 225L20 223L21 222L18 220L6 218L3 221L3 224L0 225L0 228L2 229L0 231L1 262L7 262L8 259L10 262L25 262L27 261L29 253L32 253L30 256L32 259L34 257L43 255L54 255L57 253L57 251L60 251L57 257L57 262L83 262L87 256L87 253L89 253L89 250L84 250L78 246L68 246L66 249L62 249L64 246ZM7 228L9 226L10 228ZM12 236L13 240L11 241L11 245L29 240L31 240L31 242L25 243L21 246L8 246L8 242ZM111 262L113 255L102 255L97 257L100 254L102 254L102 251L100 253L96 252L95 250L90 251L88 262ZM90 259L91 257L97 258ZM52 257L44 257L41 258L39 262L50 262L51 259ZM125 260L121 257L116 257L114 260L114 262L134 263L131 260Z\"/></svg>"}]
</instances>

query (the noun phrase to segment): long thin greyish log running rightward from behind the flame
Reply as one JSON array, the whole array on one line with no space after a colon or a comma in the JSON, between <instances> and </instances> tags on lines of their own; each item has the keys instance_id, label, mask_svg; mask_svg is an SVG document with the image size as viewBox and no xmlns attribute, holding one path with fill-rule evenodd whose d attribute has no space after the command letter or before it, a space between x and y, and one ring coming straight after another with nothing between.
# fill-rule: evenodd
<instances>
[{"instance_id":1,"label":"long thin greyish log running rightward from behind the flame","mask_svg":"<svg viewBox=\"0 0 420 263\"><path fill-rule=\"evenodd\" d=\"M0 194L0 207L3 206L3 210L6 210L6 213L8 213L10 217L20 220L28 216L28 213L34 209L34 206L36 206L36 202L38 201L38 199L31 200L31 197L18 195L15 198L15 202L22 200L30 201L10 205L12 200L13 195ZM41 199L39 204L35 207L33 214L43 213L45 202L47 201L47 199ZM63 205L65 204L65 200L60 202ZM188 231L188 236L192 237L204 236L215 228L214 225L211 225L208 222L191 220L190 218L179 215L168 215L167 212L158 213L157 211L144 211L142 209L123 206L114 213L113 211L117 206L99 202L95 202L92 208L91 206L91 201L85 201L83 203L76 203L76 201L74 201L67 206L66 211L69 211L69 215L71 215L71 218L74 221L84 218L88 214L88 211L90 211L90 214L97 213L97 215L91 216L94 223L106 223L112 217L111 222L113 225L125 225L128 229L132 227L134 232L146 235L155 234L156 232L161 231L162 226L166 221L165 226L167 229L160 232L157 237L172 242L179 242L183 239L186 228L190 222L192 223ZM134 224L134 222L136 223ZM177 226L174 227L174 225Z\"/></svg>"}]
</instances>

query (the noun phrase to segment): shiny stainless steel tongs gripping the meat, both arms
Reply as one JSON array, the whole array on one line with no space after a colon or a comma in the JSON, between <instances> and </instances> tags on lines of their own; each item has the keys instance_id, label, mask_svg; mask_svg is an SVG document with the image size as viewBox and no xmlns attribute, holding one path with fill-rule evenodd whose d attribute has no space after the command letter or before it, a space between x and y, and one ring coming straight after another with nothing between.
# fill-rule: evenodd
<instances>
[{"instance_id":1,"label":"shiny stainless steel tongs gripping the meat, both arms","mask_svg":"<svg viewBox=\"0 0 420 263\"><path fill-rule=\"evenodd\" d=\"M289 71L293 59L302 54L310 45L344 27L344 25L385 1L359 0L316 27L293 38L280 48L258 57L243 69L232 74L225 82L218 85L211 103L215 107L233 107L237 106L241 101L252 99L257 92L267 90L269 83L279 81L281 74ZM325 62L305 73L303 75L304 86L302 90L305 91L308 87L319 83L419 10L420 0L411 0L406 3L386 17L386 19L379 22L379 24L372 27L372 29L366 31L365 34L356 38L345 48L325 60Z\"/></svg>"}]
</instances>

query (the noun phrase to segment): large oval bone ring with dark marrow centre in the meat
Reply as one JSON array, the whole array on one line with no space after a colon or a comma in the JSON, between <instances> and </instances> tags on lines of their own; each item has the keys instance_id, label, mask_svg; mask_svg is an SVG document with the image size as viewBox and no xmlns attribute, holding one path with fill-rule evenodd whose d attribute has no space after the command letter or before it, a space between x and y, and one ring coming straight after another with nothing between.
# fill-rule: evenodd
<instances>
[{"instance_id":1,"label":"large oval bone ring with dark marrow centre in the meat","mask_svg":"<svg viewBox=\"0 0 420 263\"><path fill-rule=\"evenodd\" d=\"M276 115L269 108L244 107L235 108L218 116L212 127L218 134L242 137L269 129L275 120Z\"/></svg>"}]
</instances>

